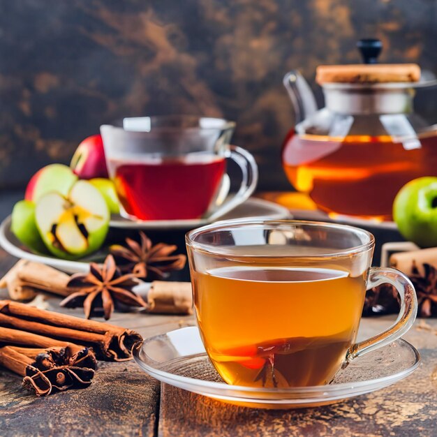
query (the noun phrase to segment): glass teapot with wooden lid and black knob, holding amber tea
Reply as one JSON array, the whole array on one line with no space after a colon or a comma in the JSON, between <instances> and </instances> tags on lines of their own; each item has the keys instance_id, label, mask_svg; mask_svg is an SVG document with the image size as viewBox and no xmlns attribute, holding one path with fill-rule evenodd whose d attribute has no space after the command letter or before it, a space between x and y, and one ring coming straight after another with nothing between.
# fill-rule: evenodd
<instances>
[{"instance_id":1,"label":"glass teapot with wooden lid and black knob, holding amber tea","mask_svg":"<svg viewBox=\"0 0 437 437\"><path fill-rule=\"evenodd\" d=\"M416 64L376 64L379 40L357 45L364 64L317 68L323 109L302 75L284 77L296 126L283 144L283 168L326 212L391 220L404 184L437 176L437 124L413 110L415 90L437 81L421 81Z\"/></svg>"}]
</instances>

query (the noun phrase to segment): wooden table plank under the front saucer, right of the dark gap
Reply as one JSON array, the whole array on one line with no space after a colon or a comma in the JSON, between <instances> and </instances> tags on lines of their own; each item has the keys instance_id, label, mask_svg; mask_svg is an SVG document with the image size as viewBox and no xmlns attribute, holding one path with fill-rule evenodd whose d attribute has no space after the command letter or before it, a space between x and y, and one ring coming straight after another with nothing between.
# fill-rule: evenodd
<instances>
[{"instance_id":1,"label":"wooden table plank under the front saucer, right of the dark gap","mask_svg":"<svg viewBox=\"0 0 437 437\"><path fill-rule=\"evenodd\" d=\"M388 322L387 318L364 319L362 324L367 336L380 332ZM163 384L158 435L436 436L437 320L418 320L406 339L422 354L422 364L412 376L332 406L302 410L244 408Z\"/></svg>"}]
</instances>

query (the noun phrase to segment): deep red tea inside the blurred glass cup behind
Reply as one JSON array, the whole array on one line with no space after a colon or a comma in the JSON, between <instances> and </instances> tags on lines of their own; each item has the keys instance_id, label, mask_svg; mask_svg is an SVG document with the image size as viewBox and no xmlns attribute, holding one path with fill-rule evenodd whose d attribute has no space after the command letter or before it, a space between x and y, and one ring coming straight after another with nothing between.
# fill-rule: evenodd
<instances>
[{"instance_id":1,"label":"deep red tea inside the blurred glass cup behind","mask_svg":"<svg viewBox=\"0 0 437 437\"><path fill-rule=\"evenodd\" d=\"M140 220L200 218L212 202L225 172L216 155L137 162L110 161L124 210Z\"/></svg>"}]
</instances>

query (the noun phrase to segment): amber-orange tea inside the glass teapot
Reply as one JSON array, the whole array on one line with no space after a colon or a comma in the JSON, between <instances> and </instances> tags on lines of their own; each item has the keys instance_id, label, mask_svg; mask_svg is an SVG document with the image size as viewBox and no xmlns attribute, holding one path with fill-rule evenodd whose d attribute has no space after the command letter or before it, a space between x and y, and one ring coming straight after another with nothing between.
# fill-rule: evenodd
<instances>
[{"instance_id":1,"label":"amber-orange tea inside the glass teapot","mask_svg":"<svg viewBox=\"0 0 437 437\"><path fill-rule=\"evenodd\" d=\"M392 219L394 197L416 177L436 175L437 133L419 138L412 149L390 136L290 133L283 168L297 191L309 193L327 212Z\"/></svg>"}]
</instances>

